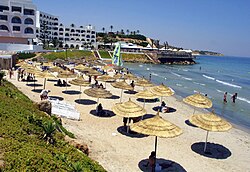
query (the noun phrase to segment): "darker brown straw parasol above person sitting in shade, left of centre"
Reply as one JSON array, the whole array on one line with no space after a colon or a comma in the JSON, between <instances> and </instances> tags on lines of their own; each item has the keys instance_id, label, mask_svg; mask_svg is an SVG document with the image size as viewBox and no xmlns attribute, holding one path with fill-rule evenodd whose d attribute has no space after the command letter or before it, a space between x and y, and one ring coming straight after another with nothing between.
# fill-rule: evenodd
<instances>
[{"instance_id":1,"label":"darker brown straw parasol above person sitting in shade, left of centre","mask_svg":"<svg viewBox=\"0 0 250 172\"><path fill-rule=\"evenodd\" d=\"M112 97L112 94L103 88L89 88L84 90L84 93L90 97L97 98L97 104L99 103L99 98Z\"/></svg>"}]
</instances>

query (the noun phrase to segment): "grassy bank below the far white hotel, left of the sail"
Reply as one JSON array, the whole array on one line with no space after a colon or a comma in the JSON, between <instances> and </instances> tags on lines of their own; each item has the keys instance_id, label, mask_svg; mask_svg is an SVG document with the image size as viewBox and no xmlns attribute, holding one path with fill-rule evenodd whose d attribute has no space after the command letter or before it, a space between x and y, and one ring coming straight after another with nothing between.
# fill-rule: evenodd
<instances>
[{"instance_id":1,"label":"grassy bank below the far white hotel, left of the sail","mask_svg":"<svg viewBox=\"0 0 250 172\"><path fill-rule=\"evenodd\" d=\"M50 53L43 53L41 56L44 58L47 58L48 60L55 60L55 59L65 59L66 58L66 52L50 52ZM69 58L95 58L93 53L91 51L67 51L67 57Z\"/></svg>"}]
</instances>

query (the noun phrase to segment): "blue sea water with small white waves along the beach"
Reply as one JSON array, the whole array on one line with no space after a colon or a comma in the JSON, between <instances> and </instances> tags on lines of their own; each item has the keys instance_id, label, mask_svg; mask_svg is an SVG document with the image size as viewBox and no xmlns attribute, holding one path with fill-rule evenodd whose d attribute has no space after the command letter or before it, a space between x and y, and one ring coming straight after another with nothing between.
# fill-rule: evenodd
<instances>
[{"instance_id":1,"label":"blue sea water with small white waves along the beach","mask_svg":"<svg viewBox=\"0 0 250 172\"><path fill-rule=\"evenodd\" d=\"M171 87L179 98L207 94L216 114L249 131L250 58L198 56L195 61L195 65L125 63L124 67L147 79L151 74L152 82ZM224 92L228 92L227 103L223 103ZM235 103L234 93L238 93Z\"/></svg>"}]
</instances>

